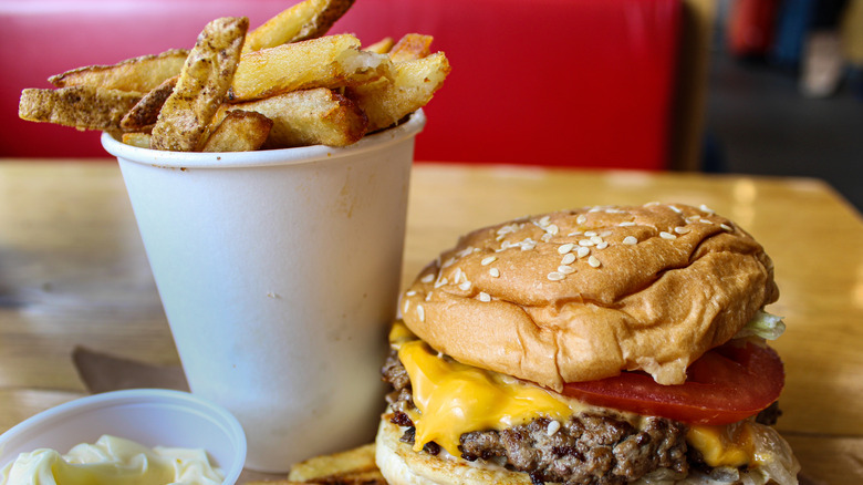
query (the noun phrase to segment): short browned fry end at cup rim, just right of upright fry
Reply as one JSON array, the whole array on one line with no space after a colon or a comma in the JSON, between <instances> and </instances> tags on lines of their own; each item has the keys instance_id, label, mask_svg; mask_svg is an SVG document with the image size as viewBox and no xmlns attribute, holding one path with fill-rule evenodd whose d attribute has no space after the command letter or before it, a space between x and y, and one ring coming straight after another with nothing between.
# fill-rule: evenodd
<instances>
[{"instance_id":1,"label":"short browned fry end at cup rim, just right of upright fry","mask_svg":"<svg viewBox=\"0 0 863 485\"><path fill-rule=\"evenodd\" d=\"M232 110L207 138L204 152L251 152L267 141L272 120L254 112Z\"/></svg>"}]
</instances>

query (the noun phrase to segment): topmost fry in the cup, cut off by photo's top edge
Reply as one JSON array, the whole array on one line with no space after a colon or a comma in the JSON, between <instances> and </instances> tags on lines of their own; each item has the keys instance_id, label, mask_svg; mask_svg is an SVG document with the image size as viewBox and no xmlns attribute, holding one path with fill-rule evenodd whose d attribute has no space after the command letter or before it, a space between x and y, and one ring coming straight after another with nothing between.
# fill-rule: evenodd
<instances>
[{"instance_id":1,"label":"topmost fry in the cup, cut off by photo's top edge","mask_svg":"<svg viewBox=\"0 0 863 485\"><path fill-rule=\"evenodd\" d=\"M354 0L305 0L282 11L249 32L243 52L260 51L326 33Z\"/></svg>"}]
</instances>

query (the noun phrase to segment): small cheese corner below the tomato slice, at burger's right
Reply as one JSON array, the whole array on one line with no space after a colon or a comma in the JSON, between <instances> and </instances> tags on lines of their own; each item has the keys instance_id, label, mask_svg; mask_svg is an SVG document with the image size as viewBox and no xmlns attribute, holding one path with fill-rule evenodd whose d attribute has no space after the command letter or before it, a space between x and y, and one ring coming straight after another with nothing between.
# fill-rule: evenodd
<instances>
[{"instance_id":1,"label":"small cheese corner below the tomato slice, at burger's right","mask_svg":"<svg viewBox=\"0 0 863 485\"><path fill-rule=\"evenodd\" d=\"M710 466L757 465L751 425L744 421L726 426L690 426L686 443L701 452Z\"/></svg>"}]
</instances>

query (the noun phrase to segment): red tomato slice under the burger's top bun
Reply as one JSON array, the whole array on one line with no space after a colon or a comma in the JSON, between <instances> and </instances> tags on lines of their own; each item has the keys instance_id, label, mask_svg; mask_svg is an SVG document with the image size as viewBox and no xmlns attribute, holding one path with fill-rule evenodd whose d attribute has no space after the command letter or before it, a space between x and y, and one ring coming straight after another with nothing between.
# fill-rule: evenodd
<instances>
[{"instance_id":1,"label":"red tomato slice under the burger's top bun","mask_svg":"<svg viewBox=\"0 0 863 485\"><path fill-rule=\"evenodd\" d=\"M730 424L769 406L784 385L779 355L767 345L729 342L687 369L686 382L657 384L642 372L566 383L563 394L593 405L689 424Z\"/></svg>"}]
</instances>

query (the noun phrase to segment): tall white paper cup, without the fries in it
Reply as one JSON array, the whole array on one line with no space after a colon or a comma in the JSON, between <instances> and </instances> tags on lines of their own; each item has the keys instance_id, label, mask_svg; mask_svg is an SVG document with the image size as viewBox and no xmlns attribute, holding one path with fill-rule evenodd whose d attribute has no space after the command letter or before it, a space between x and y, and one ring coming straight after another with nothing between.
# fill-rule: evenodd
<instances>
[{"instance_id":1,"label":"tall white paper cup, without the fries in it","mask_svg":"<svg viewBox=\"0 0 863 485\"><path fill-rule=\"evenodd\" d=\"M285 472L371 442L422 111L346 148L137 148L107 134L191 391Z\"/></svg>"}]
</instances>

